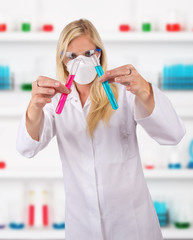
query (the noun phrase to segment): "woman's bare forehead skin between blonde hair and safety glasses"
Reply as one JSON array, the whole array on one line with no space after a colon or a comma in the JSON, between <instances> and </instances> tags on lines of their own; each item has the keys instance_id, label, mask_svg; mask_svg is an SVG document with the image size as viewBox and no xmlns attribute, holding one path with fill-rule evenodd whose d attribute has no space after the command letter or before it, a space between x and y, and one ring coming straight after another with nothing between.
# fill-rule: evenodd
<instances>
[{"instance_id":1,"label":"woman's bare forehead skin between blonde hair and safety glasses","mask_svg":"<svg viewBox=\"0 0 193 240\"><path fill-rule=\"evenodd\" d=\"M80 37L77 37L73 39L70 44L68 45L67 51L70 52L72 57L76 57L78 55L86 55L89 50L95 50L96 45L91 42L89 37L85 34ZM98 54L98 53L97 53ZM73 59L73 58L72 58ZM64 58L64 64L66 65L71 58L68 58L65 56Z\"/></svg>"}]
</instances>

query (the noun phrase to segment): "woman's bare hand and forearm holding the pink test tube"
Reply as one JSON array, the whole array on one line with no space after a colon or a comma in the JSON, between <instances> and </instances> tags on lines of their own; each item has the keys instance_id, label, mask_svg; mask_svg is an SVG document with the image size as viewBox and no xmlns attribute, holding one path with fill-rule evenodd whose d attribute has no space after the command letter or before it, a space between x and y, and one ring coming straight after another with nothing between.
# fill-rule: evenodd
<instances>
[{"instance_id":1,"label":"woman's bare hand and forearm holding the pink test tube","mask_svg":"<svg viewBox=\"0 0 193 240\"><path fill-rule=\"evenodd\" d=\"M32 84L32 97L26 112L26 128L34 140L39 141L43 107L51 102L56 93L70 92L64 84L48 77L38 77Z\"/></svg>"}]
</instances>

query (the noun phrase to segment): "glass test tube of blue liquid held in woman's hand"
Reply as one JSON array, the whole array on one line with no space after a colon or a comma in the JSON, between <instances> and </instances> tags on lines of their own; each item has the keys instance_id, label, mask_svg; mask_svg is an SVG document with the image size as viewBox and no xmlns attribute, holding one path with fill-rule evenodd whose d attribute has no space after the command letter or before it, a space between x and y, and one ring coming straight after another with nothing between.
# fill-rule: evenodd
<instances>
[{"instance_id":1,"label":"glass test tube of blue liquid held in woman's hand","mask_svg":"<svg viewBox=\"0 0 193 240\"><path fill-rule=\"evenodd\" d=\"M98 76L101 77L104 74L104 71L103 71L103 69L102 69L102 67L101 67L101 65L99 63L99 60L98 60L97 56L94 54L94 55L91 56L91 58L92 58L92 61L93 61L93 64L95 66L95 69L97 71ZM113 92L111 90L109 82L105 81L105 82L102 83L102 85L104 87L104 90L105 90L105 92L107 94L107 97L109 99L109 102L110 102L112 108L114 110L116 110L119 106L118 106L117 101L116 101L116 99L115 99L115 97L113 95Z\"/></svg>"}]
</instances>

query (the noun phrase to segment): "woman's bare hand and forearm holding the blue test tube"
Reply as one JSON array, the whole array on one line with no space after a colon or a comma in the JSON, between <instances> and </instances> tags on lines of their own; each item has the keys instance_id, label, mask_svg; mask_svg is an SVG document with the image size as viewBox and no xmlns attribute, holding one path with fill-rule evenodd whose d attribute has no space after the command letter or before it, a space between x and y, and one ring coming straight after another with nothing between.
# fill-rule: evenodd
<instances>
[{"instance_id":1,"label":"woman's bare hand and forearm holding the blue test tube","mask_svg":"<svg viewBox=\"0 0 193 240\"><path fill-rule=\"evenodd\" d=\"M137 72L133 65L128 64L106 71L99 81L107 80L109 83L116 82L126 86L126 90L135 94L148 113L152 113L155 105L152 86Z\"/></svg>"}]
</instances>

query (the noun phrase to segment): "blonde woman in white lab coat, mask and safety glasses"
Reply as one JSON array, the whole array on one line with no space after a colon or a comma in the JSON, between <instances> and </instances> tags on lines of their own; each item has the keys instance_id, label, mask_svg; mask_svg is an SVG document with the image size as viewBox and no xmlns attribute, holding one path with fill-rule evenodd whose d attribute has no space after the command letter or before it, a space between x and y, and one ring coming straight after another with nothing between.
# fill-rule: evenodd
<instances>
[{"instance_id":1,"label":"blonde woman in white lab coat, mask and safety glasses","mask_svg":"<svg viewBox=\"0 0 193 240\"><path fill-rule=\"evenodd\" d=\"M170 101L132 65L107 71L99 80L87 61L92 54L106 70L105 50L91 22L81 19L68 24L57 47L59 81L38 77L33 83L17 149L33 157L57 137L67 240L161 240L143 175L136 125L167 145L182 139L184 127ZM81 63L69 90L62 83L78 58ZM116 111L101 84L105 80L112 83L119 104ZM58 93L69 94L61 115L55 114Z\"/></svg>"}]
</instances>

